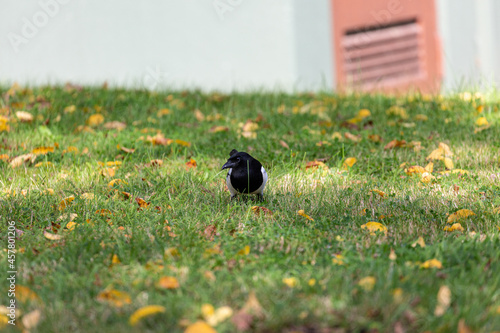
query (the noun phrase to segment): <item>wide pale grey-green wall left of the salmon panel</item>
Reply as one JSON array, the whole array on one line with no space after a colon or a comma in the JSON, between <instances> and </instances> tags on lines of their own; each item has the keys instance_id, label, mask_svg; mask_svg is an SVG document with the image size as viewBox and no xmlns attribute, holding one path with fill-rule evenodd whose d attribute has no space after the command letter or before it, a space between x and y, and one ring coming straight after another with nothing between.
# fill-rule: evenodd
<instances>
[{"instance_id":1,"label":"wide pale grey-green wall left of the salmon panel","mask_svg":"<svg viewBox=\"0 0 500 333\"><path fill-rule=\"evenodd\" d=\"M328 6L328 0L0 0L0 82L331 87Z\"/></svg>"}]
</instances>

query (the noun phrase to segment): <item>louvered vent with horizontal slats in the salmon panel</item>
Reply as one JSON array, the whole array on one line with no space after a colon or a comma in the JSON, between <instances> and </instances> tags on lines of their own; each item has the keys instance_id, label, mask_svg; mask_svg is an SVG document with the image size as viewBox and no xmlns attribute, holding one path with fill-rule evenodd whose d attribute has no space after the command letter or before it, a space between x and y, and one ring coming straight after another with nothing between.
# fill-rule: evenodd
<instances>
[{"instance_id":1,"label":"louvered vent with horizontal slats in the salmon panel","mask_svg":"<svg viewBox=\"0 0 500 333\"><path fill-rule=\"evenodd\" d=\"M369 89L421 77L421 33L416 20L347 31L342 40L347 82Z\"/></svg>"}]
</instances>

